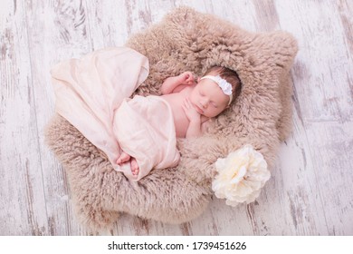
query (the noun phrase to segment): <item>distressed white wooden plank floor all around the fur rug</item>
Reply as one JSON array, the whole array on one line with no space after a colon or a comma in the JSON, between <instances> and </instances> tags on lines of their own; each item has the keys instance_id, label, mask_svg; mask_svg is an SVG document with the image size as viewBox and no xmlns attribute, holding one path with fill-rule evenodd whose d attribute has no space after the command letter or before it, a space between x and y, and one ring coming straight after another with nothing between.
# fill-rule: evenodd
<instances>
[{"instance_id":1,"label":"distressed white wooden plank floor all around the fur rug","mask_svg":"<svg viewBox=\"0 0 353 254\"><path fill-rule=\"evenodd\" d=\"M124 215L113 230L85 231L65 173L43 144L54 105L49 70L124 44L178 5L250 31L294 34L291 137L251 205L214 200L179 226ZM352 14L350 0L2 0L0 235L353 235Z\"/></svg>"}]
</instances>

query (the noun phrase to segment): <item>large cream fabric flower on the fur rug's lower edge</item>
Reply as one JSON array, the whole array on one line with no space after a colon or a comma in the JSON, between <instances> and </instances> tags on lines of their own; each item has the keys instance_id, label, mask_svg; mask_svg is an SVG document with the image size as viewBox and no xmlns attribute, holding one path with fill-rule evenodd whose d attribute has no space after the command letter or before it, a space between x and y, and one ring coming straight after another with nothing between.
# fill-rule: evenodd
<instances>
[{"instance_id":1,"label":"large cream fabric flower on the fur rug's lower edge","mask_svg":"<svg viewBox=\"0 0 353 254\"><path fill-rule=\"evenodd\" d=\"M234 207L253 202L271 176L262 154L250 144L219 158L215 169L218 174L212 181L212 190L218 199L226 199L226 204Z\"/></svg>"}]
</instances>

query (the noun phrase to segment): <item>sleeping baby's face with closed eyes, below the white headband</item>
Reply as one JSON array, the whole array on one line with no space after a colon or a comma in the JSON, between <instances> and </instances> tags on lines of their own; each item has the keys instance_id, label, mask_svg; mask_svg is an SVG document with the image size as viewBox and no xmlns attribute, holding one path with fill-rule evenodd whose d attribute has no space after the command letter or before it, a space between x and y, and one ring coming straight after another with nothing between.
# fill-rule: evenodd
<instances>
[{"instance_id":1,"label":"sleeping baby's face with closed eyes, below the white headband","mask_svg":"<svg viewBox=\"0 0 353 254\"><path fill-rule=\"evenodd\" d=\"M203 79L197 83L189 99L197 112L206 117L215 117L224 111L230 97L223 93L217 83Z\"/></svg>"}]
</instances>

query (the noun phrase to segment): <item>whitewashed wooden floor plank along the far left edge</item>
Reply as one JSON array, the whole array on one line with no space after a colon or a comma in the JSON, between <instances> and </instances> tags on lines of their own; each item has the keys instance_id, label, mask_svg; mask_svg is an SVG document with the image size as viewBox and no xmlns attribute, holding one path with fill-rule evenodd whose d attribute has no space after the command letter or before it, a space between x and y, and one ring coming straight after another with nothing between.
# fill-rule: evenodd
<instances>
[{"instance_id":1,"label":"whitewashed wooden floor plank along the far left edge","mask_svg":"<svg viewBox=\"0 0 353 254\"><path fill-rule=\"evenodd\" d=\"M37 112L33 102L25 8L19 3L6 2L5 9L7 15L1 26L0 44L0 233L43 235L47 234L48 224L41 156L37 152Z\"/></svg>"}]
</instances>

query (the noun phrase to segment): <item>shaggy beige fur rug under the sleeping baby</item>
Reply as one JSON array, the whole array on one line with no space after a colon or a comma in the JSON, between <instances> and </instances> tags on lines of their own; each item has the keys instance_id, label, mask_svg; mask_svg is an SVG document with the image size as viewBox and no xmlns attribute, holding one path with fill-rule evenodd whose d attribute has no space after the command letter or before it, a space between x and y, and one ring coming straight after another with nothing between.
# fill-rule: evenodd
<instances>
[{"instance_id":1,"label":"shaggy beige fur rug under the sleeping baby","mask_svg":"<svg viewBox=\"0 0 353 254\"><path fill-rule=\"evenodd\" d=\"M209 133L178 141L182 158L176 168L152 171L138 182L113 171L102 152L55 114L46 142L67 172L83 224L107 228L119 212L167 223L193 220L213 194L215 161L247 143L272 168L279 144L291 130L289 72L297 53L291 34L250 33L214 15L180 7L126 45L149 59L150 74L138 94L158 94L167 76L186 70L201 75L212 65L235 70L242 93Z\"/></svg>"}]
</instances>

